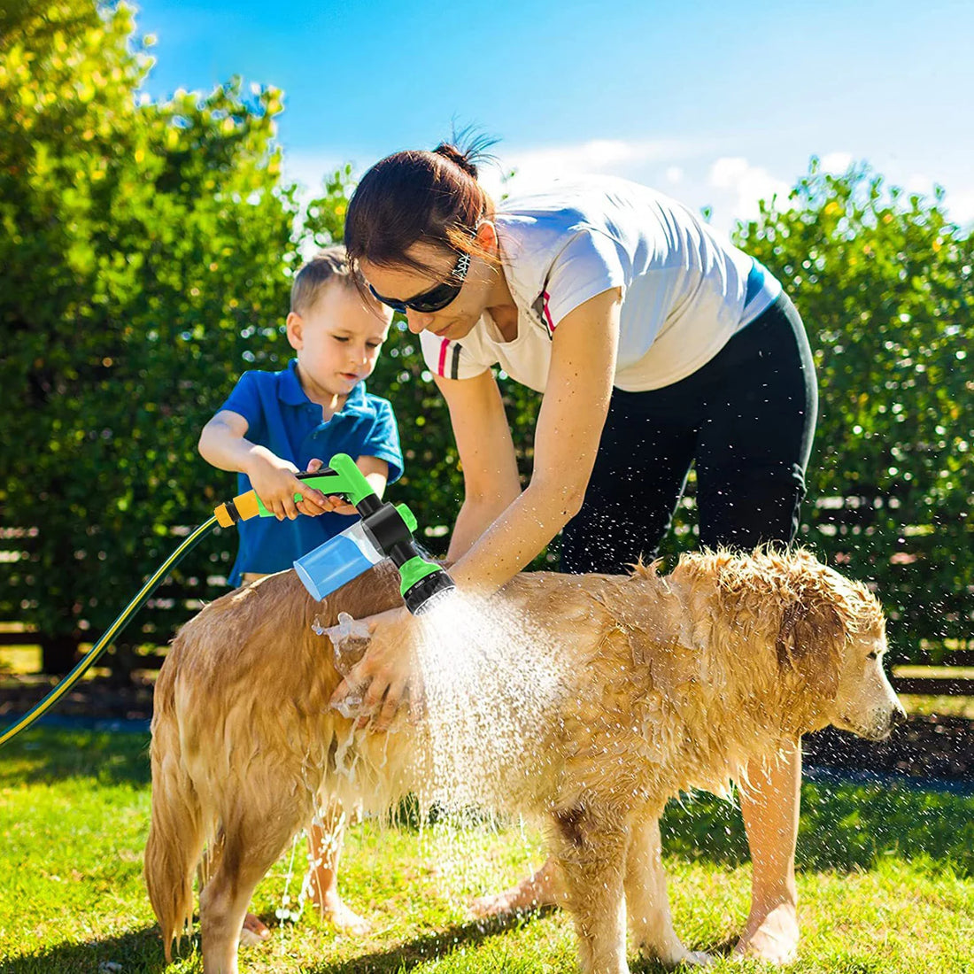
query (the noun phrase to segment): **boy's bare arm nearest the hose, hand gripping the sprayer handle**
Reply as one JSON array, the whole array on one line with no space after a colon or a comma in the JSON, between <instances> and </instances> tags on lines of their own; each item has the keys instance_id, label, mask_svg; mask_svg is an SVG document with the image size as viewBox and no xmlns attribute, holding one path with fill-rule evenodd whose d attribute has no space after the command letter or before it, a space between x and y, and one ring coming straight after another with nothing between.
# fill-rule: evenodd
<instances>
[{"instance_id":1,"label":"boy's bare arm nearest the hose, hand gripping the sprayer handle","mask_svg":"<svg viewBox=\"0 0 974 974\"><path fill-rule=\"evenodd\" d=\"M285 517L293 520L299 513L314 516L333 509L320 491L294 476L298 470L292 463L246 439L248 428L239 413L220 410L200 433L200 455L215 468L245 473L264 506L274 511L279 521ZM294 503L295 494L302 497L298 504Z\"/></svg>"}]
</instances>

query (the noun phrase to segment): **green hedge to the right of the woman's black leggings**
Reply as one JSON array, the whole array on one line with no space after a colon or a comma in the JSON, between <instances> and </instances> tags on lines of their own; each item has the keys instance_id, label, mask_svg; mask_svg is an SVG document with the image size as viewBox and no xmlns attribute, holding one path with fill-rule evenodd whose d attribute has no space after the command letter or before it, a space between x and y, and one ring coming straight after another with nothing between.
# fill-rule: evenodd
<instances>
[{"instance_id":1,"label":"green hedge to the right of the woman's black leggings","mask_svg":"<svg viewBox=\"0 0 974 974\"><path fill-rule=\"evenodd\" d=\"M974 236L866 167L812 161L738 243L793 296L821 387L804 537L876 582L899 653L974 618Z\"/></svg>"}]
</instances>

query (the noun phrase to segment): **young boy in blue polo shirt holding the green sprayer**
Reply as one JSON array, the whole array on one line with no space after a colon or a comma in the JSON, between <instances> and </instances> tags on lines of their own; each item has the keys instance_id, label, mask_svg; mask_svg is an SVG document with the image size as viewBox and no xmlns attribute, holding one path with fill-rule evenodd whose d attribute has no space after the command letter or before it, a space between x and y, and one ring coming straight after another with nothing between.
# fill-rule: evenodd
<instances>
[{"instance_id":1,"label":"young boy in blue polo shirt holding the green sprayer","mask_svg":"<svg viewBox=\"0 0 974 974\"><path fill-rule=\"evenodd\" d=\"M203 458L221 470L236 470L238 492L253 488L277 515L240 522L231 584L290 568L352 523L354 506L310 489L295 473L347 453L381 496L402 472L393 407L366 393L363 382L375 368L391 320L388 308L362 297L342 247L321 250L296 275L286 322L296 357L281 372L244 372L200 435ZM295 494L302 501L295 503ZM338 893L342 828L340 807L312 823L312 895L337 927L364 932L367 924ZM242 942L268 935L248 914Z\"/></svg>"}]
</instances>

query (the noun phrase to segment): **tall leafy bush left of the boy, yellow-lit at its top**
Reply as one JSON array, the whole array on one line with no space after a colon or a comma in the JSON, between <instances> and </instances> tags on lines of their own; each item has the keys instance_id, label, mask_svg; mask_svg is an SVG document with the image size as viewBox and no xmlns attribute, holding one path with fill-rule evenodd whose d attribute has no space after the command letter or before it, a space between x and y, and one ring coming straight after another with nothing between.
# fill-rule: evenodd
<instances>
[{"instance_id":1,"label":"tall leafy bush left of the boy, yellow-lit at its top","mask_svg":"<svg viewBox=\"0 0 974 974\"><path fill-rule=\"evenodd\" d=\"M196 440L244 368L279 361L296 205L280 92L141 103L129 8L21 15L0 42L0 503L35 536L0 615L77 640L211 510Z\"/></svg>"}]
</instances>

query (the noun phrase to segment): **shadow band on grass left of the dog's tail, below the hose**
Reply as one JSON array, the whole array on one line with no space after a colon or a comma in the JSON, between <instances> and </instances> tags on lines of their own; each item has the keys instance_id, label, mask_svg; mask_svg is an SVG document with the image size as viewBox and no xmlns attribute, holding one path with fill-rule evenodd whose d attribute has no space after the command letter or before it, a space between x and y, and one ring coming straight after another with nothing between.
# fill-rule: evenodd
<instances>
[{"instance_id":1,"label":"shadow band on grass left of the dog's tail, below the hose","mask_svg":"<svg viewBox=\"0 0 974 974\"><path fill-rule=\"evenodd\" d=\"M0 788L91 778L100 784L147 785L148 733L31 728L3 747Z\"/></svg>"}]
</instances>

